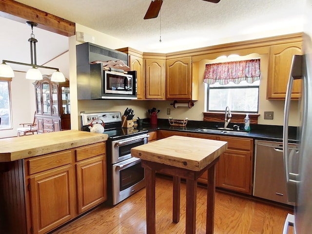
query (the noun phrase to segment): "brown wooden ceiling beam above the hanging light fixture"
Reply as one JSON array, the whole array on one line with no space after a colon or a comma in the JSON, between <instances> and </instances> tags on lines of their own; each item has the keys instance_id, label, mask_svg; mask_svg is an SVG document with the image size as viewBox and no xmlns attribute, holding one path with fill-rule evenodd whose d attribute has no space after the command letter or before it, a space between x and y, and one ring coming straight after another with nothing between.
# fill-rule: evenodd
<instances>
[{"instance_id":1,"label":"brown wooden ceiling beam above the hanging light fixture","mask_svg":"<svg viewBox=\"0 0 312 234\"><path fill-rule=\"evenodd\" d=\"M33 21L38 23L38 28L66 37L74 36L76 32L74 22L64 20L14 0L0 0L0 17L22 23Z\"/></svg>"}]
</instances>

